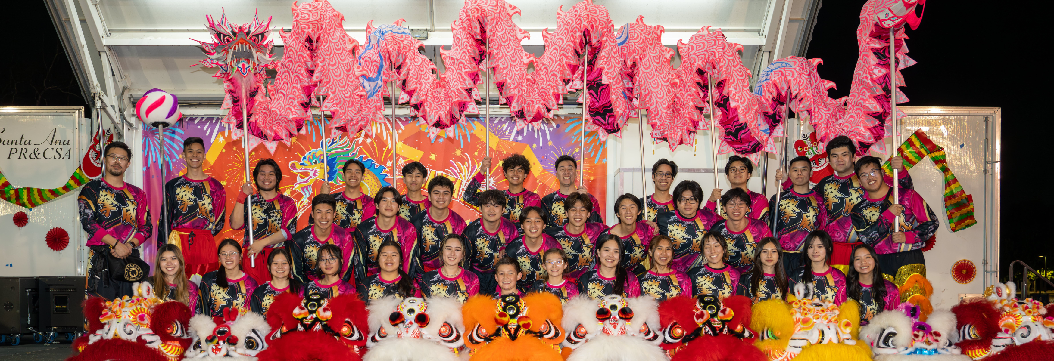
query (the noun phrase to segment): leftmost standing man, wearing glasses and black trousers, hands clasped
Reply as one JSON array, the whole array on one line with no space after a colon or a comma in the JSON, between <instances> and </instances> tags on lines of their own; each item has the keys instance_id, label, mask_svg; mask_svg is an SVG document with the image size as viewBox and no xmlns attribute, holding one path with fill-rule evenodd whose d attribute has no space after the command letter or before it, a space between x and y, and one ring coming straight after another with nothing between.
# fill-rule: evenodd
<instances>
[{"instance_id":1,"label":"leftmost standing man, wearing glasses and black trousers, hands clasped","mask_svg":"<svg viewBox=\"0 0 1054 361\"><path fill-rule=\"evenodd\" d=\"M84 294L108 300L132 296L132 283L110 277L106 253L119 259L139 257L136 249L150 238L153 223L147 194L124 182L132 151L123 142L112 142L102 152L105 173L84 184L77 196L80 224L87 234L87 270ZM150 269L141 269L150 273Z\"/></svg>"}]
</instances>

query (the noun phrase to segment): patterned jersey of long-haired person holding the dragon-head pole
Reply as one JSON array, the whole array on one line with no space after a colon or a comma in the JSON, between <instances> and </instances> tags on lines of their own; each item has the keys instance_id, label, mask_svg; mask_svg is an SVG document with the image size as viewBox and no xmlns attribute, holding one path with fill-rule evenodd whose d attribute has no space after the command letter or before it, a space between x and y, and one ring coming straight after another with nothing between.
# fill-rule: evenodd
<instances>
[{"instance_id":1,"label":"patterned jersey of long-haired person holding the dragon-head pole","mask_svg":"<svg viewBox=\"0 0 1054 361\"><path fill-rule=\"evenodd\" d=\"M235 230L243 229L246 224L253 224L253 240L261 240L274 234L284 234L286 239L292 239L296 234L296 201L289 196L278 194L272 199L264 199L259 193L251 198L253 203L253 216L249 217L249 207L242 207L243 217L247 220ZM248 202L246 202L248 203ZM249 236L245 237L241 247L249 246ZM267 246L268 248L279 248L285 246L285 242L278 242Z\"/></svg>"}]
</instances>

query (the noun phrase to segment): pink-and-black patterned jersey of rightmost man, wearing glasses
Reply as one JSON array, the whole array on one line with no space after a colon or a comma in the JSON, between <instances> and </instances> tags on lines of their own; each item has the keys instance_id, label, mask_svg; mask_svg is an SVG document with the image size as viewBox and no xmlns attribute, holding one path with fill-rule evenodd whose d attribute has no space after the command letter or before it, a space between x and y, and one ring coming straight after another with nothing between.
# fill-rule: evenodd
<instances>
[{"instance_id":1,"label":"pink-and-black patterned jersey of rightmost man, wearing glasses","mask_svg":"<svg viewBox=\"0 0 1054 361\"><path fill-rule=\"evenodd\" d=\"M864 242L875 247L879 255L922 248L940 226L937 215L918 193L900 189L900 205L904 206L904 213L900 217L900 232L904 233L905 240L903 243L894 243L893 222L896 217L889 210L893 204L893 189L889 190L885 197L879 199L871 199L864 195L863 200L853 207L853 213L846 217L853 220L848 241Z\"/></svg>"}]
</instances>

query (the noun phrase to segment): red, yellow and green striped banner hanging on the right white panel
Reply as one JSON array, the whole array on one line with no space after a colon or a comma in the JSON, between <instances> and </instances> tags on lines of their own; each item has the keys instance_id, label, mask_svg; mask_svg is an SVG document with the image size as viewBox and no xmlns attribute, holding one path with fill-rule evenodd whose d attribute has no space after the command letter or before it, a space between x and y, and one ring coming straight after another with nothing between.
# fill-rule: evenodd
<instances>
[{"instance_id":1,"label":"red, yellow and green striped banner hanging on the right white panel","mask_svg":"<svg viewBox=\"0 0 1054 361\"><path fill-rule=\"evenodd\" d=\"M974 219L974 198L962 189L962 184L948 167L945 159L948 156L943 147L930 140L922 129L918 129L907 137L897 151L904 158L904 169L911 169L923 158L930 157L934 166L944 174L944 213L948 214L952 232L959 232L977 223ZM886 175L893 176L893 167L889 160L882 164L882 169Z\"/></svg>"}]
</instances>

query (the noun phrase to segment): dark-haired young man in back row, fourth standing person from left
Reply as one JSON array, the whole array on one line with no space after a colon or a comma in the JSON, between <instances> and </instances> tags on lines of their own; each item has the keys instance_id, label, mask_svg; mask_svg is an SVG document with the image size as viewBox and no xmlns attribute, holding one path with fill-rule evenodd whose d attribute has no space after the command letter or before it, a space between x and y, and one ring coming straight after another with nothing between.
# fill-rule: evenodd
<instances>
[{"instance_id":1,"label":"dark-haired young man in back row, fourth standing person from left","mask_svg":"<svg viewBox=\"0 0 1054 361\"><path fill-rule=\"evenodd\" d=\"M344 162L344 192L333 194L336 198L336 216L333 222L337 226L351 229L358 226L367 219L373 217L376 207L373 198L363 193L363 179L366 178L366 164L349 159ZM323 183L321 193L329 193L329 182ZM313 219L308 218L308 224L313 223Z\"/></svg>"}]
</instances>

